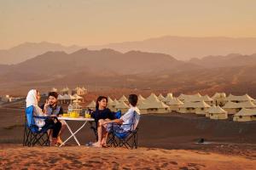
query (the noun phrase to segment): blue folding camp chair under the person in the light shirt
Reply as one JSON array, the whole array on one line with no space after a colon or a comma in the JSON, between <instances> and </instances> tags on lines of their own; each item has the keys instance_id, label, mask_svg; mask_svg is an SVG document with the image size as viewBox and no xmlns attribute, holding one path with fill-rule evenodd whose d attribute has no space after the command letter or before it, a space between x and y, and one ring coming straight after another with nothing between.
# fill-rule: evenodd
<instances>
[{"instance_id":1,"label":"blue folding camp chair under the person in the light shirt","mask_svg":"<svg viewBox=\"0 0 256 170\"><path fill-rule=\"evenodd\" d=\"M112 123L112 129L111 129L111 133L113 134L112 138L109 139L109 144L113 145L114 147L117 146L123 146L125 145L125 147L127 149L131 148L135 148L137 149L137 124L135 123L135 121L138 119L140 119L140 116L137 114L136 111L134 111L133 113L133 117L132 117L132 121L131 124L117 124L117 123ZM128 126L130 127L130 129L128 131L123 130L122 127Z\"/></svg>"}]
</instances>

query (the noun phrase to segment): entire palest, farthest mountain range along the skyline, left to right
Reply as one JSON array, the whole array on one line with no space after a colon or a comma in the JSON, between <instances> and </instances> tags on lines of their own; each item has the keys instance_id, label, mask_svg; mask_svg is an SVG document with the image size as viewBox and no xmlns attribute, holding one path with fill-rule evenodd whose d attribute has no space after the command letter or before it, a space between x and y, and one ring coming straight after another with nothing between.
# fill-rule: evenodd
<instances>
[{"instance_id":1,"label":"entire palest, farthest mountain range along the skyline, left to right","mask_svg":"<svg viewBox=\"0 0 256 170\"><path fill-rule=\"evenodd\" d=\"M178 60L201 59L205 56L228 54L255 54L254 37L155 37L143 41L117 42L101 46L63 46L51 42L25 42L14 48L0 50L0 65L18 64L26 59L49 51L63 51L71 54L81 48L100 50L112 48L121 53L129 51L147 51L148 53L169 54Z\"/></svg>"}]
</instances>

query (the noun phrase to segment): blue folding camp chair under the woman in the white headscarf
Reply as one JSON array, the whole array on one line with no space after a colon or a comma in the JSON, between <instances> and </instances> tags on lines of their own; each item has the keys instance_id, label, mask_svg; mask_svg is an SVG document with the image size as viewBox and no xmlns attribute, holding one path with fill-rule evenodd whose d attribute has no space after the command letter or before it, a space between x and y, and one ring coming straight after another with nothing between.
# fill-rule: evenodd
<instances>
[{"instance_id":1,"label":"blue folding camp chair under the woman in the white headscarf","mask_svg":"<svg viewBox=\"0 0 256 170\"><path fill-rule=\"evenodd\" d=\"M35 144L38 145L45 145L49 146L49 135L47 133L49 129L52 128L51 125L48 127L38 127L35 122L34 118L37 119L47 119L47 118L54 118L53 116L33 116L33 106L26 108L26 121L25 121L25 129L24 129L24 136L23 136L23 146L34 146Z\"/></svg>"}]
</instances>

